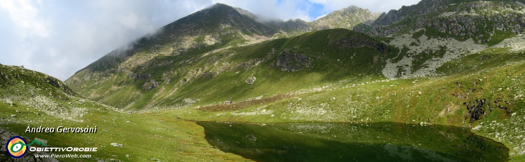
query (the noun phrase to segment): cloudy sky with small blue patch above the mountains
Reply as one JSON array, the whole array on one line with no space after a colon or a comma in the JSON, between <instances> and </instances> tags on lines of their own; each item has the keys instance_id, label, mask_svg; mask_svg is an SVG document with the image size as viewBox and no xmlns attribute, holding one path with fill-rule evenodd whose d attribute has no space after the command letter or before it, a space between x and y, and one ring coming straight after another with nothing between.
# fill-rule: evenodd
<instances>
[{"instance_id":1,"label":"cloudy sky with small blue patch above the mountains","mask_svg":"<svg viewBox=\"0 0 525 162\"><path fill-rule=\"evenodd\" d=\"M388 11L405 1L354 0L0 0L0 63L24 65L66 80L108 52L215 3L283 20L311 21L313 3L328 14L350 5Z\"/></svg>"}]
</instances>

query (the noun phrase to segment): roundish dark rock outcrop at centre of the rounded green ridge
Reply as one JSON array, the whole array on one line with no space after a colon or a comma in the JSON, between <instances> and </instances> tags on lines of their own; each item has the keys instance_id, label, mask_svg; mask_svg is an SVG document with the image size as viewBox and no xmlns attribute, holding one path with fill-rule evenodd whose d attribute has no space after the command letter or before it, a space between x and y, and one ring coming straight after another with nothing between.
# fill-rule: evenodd
<instances>
[{"instance_id":1,"label":"roundish dark rock outcrop at centre of the rounded green ridge","mask_svg":"<svg viewBox=\"0 0 525 162\"><path fill-rule=\"evenodd\" d=\"M283 51L277 56L275 64L281 71L293 72L312 66L311 62L311 59L305 54Z\"/></svg>"}]
</instances>

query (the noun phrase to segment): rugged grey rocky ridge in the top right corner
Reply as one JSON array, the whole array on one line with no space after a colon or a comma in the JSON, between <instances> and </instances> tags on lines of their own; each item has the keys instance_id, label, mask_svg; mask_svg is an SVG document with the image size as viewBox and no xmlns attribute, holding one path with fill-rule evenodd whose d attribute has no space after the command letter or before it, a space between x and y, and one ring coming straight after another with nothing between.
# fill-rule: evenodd
<instances>
[{"instance_id":1,"label":"rugged grey rocky ridge in the top right corner","mask_svg":"<svg viewBox=\"0 0 525 162\"><path fill-rule=\"evenodd\" d=\"M524 31L524 8L520 3L475 1L453 4L451 0L424 0L379 16L366 34L384 37L406 29L414 31L433 27L443 33L486 42L498 30L514 34Z\"/></svg>"}]
</instances>

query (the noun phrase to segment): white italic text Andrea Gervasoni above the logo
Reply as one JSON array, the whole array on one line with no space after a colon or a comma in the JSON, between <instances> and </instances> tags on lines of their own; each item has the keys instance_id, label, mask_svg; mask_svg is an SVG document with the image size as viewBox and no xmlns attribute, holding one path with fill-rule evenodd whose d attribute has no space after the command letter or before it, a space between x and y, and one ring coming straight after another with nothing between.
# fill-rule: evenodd
<instances>
[{"instance_id":1,"label":"white italic text Andrea Gervasoni above the logo","mask_svg":"<svg viewBox=\"0 0 525 162\"><path fill-rule=\"evenodd\" d=\"M95 127L30 127L27 126L26 133L97 133L97 126Z\"/></svg>"}]
</instances>

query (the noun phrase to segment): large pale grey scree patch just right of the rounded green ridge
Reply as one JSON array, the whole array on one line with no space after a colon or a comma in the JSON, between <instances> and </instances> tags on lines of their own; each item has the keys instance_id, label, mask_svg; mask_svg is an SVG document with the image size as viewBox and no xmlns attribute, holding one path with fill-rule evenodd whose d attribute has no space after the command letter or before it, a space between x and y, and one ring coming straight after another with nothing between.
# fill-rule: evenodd
<instances>
[{"instance_id":1,"label":"large pale grey scree patch just right of the rounded green ridge","mask_svg":"<svg viewBox=\"0 0 525 162\"><path fill-rule=\"evenodd\" d=\"M423 30L425 29L416 32ZM429 38L426 35L414 37L414 34L403 34L390 41L388 45L406 51L397 53L395 59L386 59L386 65L382 70L385 77L406 79L435 75L436 69L444 63L487 48L486 45L476 44L472 39L459 41L454 38ZM421 57L430 54L434 54L434 57ZM423 62L423 64L414 66L414 62Z\"/></svg>"}]
</instances>

